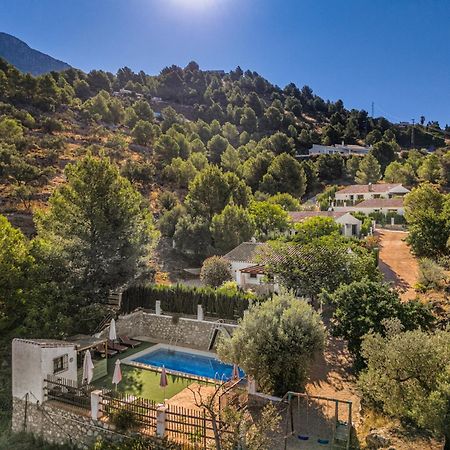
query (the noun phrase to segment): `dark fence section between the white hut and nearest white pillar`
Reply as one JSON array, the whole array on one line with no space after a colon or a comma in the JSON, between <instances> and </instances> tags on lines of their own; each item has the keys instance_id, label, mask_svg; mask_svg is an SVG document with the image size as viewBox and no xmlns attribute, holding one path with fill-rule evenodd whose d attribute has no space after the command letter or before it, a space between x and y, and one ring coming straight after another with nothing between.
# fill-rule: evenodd
<instances>
[{"instance_id":1,"label":"dark fence section between the white hut and nearest white pillar","mask_svg":"<svg viewBox=\"0 0 450 450\"><path fill-rule=\"evenodd\" d=\"M72 406L89 410L91 408L91 392L96 388L85 384L78 386L74 380L47 375L45 395L47 400L55 400Z\"/></svg>"}]
</instances>

